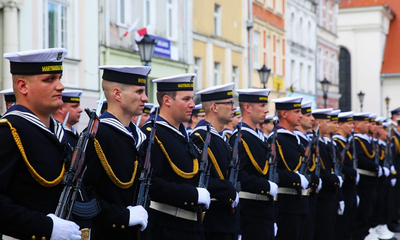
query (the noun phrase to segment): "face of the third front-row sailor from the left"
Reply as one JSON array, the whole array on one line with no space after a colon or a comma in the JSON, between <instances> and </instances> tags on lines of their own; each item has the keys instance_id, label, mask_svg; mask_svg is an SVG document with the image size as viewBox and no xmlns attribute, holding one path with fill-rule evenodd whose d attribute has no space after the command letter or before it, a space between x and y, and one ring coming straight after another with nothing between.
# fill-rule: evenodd
<instances>
[{"instance_id":1,"label":"face of the third front-row sailor from the left","mask_svg":"<svg viewBox=\"0 0 400 240\"><path fill-rule=\"evenodd\" d=\"M177 91L175 99L167 96L170 101L170 111L175 121L188 122L195 107L193 102L193 91Z\"/></svg>"}]
</instances>

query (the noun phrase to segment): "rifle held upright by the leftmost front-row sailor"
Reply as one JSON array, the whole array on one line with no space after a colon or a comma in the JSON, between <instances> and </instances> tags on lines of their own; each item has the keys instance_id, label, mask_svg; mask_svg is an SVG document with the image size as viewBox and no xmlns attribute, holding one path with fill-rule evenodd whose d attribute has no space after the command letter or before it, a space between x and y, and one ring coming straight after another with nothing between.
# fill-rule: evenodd
<instances>
[{"instance_id":1,"label":"rifle held upright by the leftmost front-row sailor","mask_svg":"<svg viewBox=\"0 0 400 240\"><path fill-rule=\"evenodd\" d=\"M99 103L98 107L101 109L101 105L103 102ZM57 209L55 215L59 218L70 220L71 215L74 209L74 205L76 202L76 197L78 192L81 189L81 183L83 175L86 171L85 161L85 152L86 147L90 139L94 139L97 129L99 127L99 118L96 115L95 111L90 111L88 108L85 109L85 112L89 115L89 123L86 130L79 137L78 143L72 152L70 167L68 172L65 173L63 184L64 189L61 193L60 199L58 201ZM89 210L93 213L96 210ZM74 211L75 213L75 211Z\"/></svg>"}]
</instances>

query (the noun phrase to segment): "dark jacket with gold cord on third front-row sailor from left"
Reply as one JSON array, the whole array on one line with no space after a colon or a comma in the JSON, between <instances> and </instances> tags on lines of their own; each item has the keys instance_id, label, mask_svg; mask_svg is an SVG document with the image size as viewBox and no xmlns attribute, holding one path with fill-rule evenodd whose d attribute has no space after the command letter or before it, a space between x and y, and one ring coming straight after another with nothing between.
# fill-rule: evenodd
<instances>
[{"instance_id":1,"label":"dark jacket with gold cord on third front-row sailor from left","mask_svg":"<svg viewBox=\"0 0 400 240\"><path fill-rule=\"evenodd\" d=\"M145 134L150 134L150 122L142 127ZM162 117L156 121L157 131L151 152L153 175L150 186L151 201L195 212L197 204L200 157L194 144L189 141L183 124L179 130ZM166 227L187 232L203 231L197 221L175 217L150 205L149 222L152 226Z\"/></svg>"}]
</instances>

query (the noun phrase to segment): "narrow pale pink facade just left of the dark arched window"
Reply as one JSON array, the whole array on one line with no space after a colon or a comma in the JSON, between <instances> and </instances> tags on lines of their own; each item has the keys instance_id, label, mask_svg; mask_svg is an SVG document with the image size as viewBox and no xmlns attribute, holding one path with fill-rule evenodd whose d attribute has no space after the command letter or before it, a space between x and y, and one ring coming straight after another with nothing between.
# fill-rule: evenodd
<instances>
[{"instance_id":1,"label":"narrow pale pink facade just left of the dark arched window","mask_svg":"<svg viewBox=\"0 0 400 240\"><path fill-rule=\"evenodd\" d=\"M339 46L338 14L340 0L316 0L317 3L317 105L325 106L320 84L324 79L331 84L327 93L326 107L339 108Z\"/></svg>"}]
</instances>

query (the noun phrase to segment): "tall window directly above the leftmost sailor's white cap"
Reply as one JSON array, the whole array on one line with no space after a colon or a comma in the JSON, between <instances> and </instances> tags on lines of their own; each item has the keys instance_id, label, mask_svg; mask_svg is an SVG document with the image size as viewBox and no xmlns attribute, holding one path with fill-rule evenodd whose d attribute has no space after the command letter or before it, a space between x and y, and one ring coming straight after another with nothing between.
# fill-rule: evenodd
<instances>
[{"instance_id":1,"label":"tall window directly above the leftmost sailor's white cap","mask_svg":"<svg viewBox=\"0 0 400 240\"><path fill-rule=\"evenodd\" d=\"M68 48L68 2L45 0L43 7L44 48Z\"/></svg>"}]
</instances>

